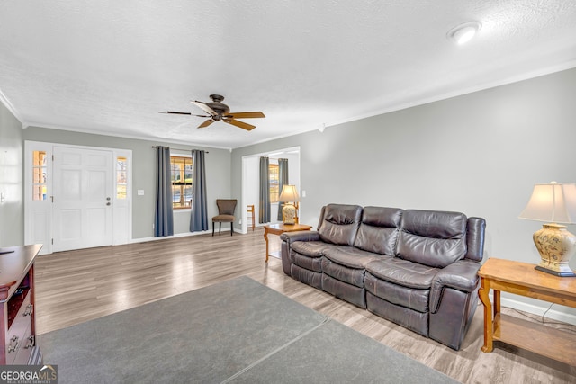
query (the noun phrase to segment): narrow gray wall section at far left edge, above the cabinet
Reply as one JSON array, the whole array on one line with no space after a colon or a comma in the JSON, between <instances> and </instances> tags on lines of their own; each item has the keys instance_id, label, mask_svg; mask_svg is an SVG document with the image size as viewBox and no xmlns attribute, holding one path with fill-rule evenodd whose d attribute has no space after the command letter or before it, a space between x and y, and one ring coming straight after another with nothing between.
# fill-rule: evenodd
<instances>
[{"instance_id":1,"label":"narrow gray wall section at far left edge, above the cabinet","mask_svg":"<svg viewBox=\"0 0 576 384\"><path fill-rule=\"evenodd\" d=\"M22 124L0 103L0 246L24 244Z\"/></svg>"}]
</instances>

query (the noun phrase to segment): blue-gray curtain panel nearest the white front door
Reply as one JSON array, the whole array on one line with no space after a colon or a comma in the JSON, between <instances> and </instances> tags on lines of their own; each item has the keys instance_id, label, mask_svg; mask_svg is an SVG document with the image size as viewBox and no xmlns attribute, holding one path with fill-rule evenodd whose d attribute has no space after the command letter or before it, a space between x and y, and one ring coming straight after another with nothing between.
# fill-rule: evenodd
<instances>
[{"instance_id":1,"label":"blue-gray curtain panel nearest the white front door","mask_svg":"<svg viewBox=\"0 0 576 384\"><path fill-rule=\"evenodd\" d=\"M156 210L154 237L174 235L172 211L172 177L170 173L170 148L156 147Z\"/></svg>"}]
</instances>

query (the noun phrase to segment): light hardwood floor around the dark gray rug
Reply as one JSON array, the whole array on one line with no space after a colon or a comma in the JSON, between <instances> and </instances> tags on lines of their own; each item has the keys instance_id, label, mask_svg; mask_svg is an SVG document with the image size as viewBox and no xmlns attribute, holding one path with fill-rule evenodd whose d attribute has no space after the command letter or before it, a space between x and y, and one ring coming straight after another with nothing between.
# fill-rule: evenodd
<instances>
[{"instance_id":1,"label":"light hardwood floor around the dark gray rug","mask_svg":"<svg viewBox=\"0 0 576 384\"><path fill-rule=\"evenodd\" d=\"M284 275L279 259L271 257L264 263L263 234L263 229L257 228L233 237L225 232L214 237L178 237L41 255L35 265L37 332L47 333L246 275L464 383L576 382L576 367L504 344L497 344L493 353L482 353L482 306L462 349L456 352L294 281ZM273 241L277 242L277 237ZM576 332L576 326L560 326Z\"/></svg>"}]
</instances>

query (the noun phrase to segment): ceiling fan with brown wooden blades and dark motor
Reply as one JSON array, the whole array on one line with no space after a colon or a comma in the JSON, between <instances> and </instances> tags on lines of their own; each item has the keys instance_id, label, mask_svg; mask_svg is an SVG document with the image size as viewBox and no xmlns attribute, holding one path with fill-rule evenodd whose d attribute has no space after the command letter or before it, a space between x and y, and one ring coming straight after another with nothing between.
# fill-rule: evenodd
<instances>
[{"instance_id":1,"label":"ceiling fan with brown wooden blades and dark motor","mask_svg":"<svg viewBox=\"0 0 576 384\"><path fill-rule=\"evenodd\" d=\"M208 113L205 115L197 115L191 112L175 112L175 111L167 111L161 113L190 115L190 116L209 118L207 121L202 122L202 124L200 124L198 128L208 127L214 121L224 121L246 130L255 129L256 126L247 124L244 121L238 121L236 119L253 119L253 118L266 117L262 112L230 112L229 106L222 103L222 100L224 100L224 96L221 96L220 94L211 94L210 98L212 99L211 103L203 103L199 101L190 102L200 107L200 109L202 109L203 112Z\"/></svg>"}]
</instances>

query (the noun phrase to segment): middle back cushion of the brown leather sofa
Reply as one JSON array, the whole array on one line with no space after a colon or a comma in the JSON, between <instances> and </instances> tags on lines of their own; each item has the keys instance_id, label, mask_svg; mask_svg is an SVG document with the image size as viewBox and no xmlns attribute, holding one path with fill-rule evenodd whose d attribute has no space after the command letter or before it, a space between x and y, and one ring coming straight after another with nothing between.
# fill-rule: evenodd
<instances>
[{"instance_id":1,"label":"middle back cushion of the brown leather sofa","mask_svg":"<svg viewBox=\"0 0 576 384\"><path fill-rule=\"evenodd\" d=\"M380 255L394 255L402 210L365 207L354 246Z\"/></svg>"}]
</instances>

